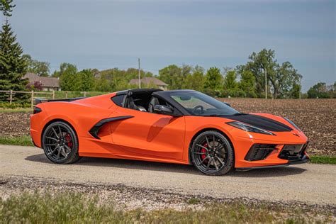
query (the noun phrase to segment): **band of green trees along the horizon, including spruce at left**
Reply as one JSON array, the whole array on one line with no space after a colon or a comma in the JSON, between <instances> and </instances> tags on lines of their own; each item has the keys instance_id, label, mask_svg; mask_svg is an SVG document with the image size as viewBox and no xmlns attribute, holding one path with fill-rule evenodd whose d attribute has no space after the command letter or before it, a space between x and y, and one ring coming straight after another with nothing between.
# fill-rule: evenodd
<instances>
[{"instance_id":1,"label":"band of green trees along the horizon, including spruce at left","mask_svg":"<svg viewBox=\"0 0 336 224\"><path fill-rule=\"evenodd\" d=\"M9 17L15 5L13 0L1 0L0 11L6 17L0 33L0 89L20 91L39 89L38 84L28 85L23 79L26 72L33 72L41 77L57 77L60 87L65 91L118 91L136 88L130 85L130 79L138 78L138 69L82 69L76 65L62 63L60 68L50 74L49 62L34 60L30 55L23 55L21 45L11 30ZM236 67L211 67L169 65L159 69L157 76L152 72L140 71L141 77L157 77L168 84L169 89L195 89L217 97L262 97L265 93L274 99L298 98L302 79L301 74L291 62L279 63L274 50L263 49L252 52L245 65ZM267 79L265 80L265 74ZM265 89L267 84L267 89ZM143 87L154 87L150 84ZM308 98L335 98L335 83L327 86L318 83L307 92ZM6 101L4 94L0 101ZM24 96L22 96L24 99Z\"/></svg>"}]
</instances>

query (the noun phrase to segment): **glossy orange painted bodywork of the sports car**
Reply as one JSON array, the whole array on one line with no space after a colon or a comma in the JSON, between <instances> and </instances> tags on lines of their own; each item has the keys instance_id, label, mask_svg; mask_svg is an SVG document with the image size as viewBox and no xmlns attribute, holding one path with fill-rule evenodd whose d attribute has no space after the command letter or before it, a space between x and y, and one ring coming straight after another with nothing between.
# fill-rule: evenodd
<instances>
[{"instance_id":1,"label":"glossy orange painted bodywork of the sports car","mask_svg":"<svg viewBox=\"0 0 336 224\"><path fill-rule=\"evenodd\" d=\"M94 96L72 102L40 103L41 113L30 116L30 135L36 146L41 147L41 137L48 123L66 121L79 138L79 155L83 157L109 157L137 159L153 162L190 164L189 147L198 132L216 129L226 135L235 151L235 167L260 167L288 163L277 155L284 144L304 144L306 135L296 130L284 118L266 113L255 113L286 123L293 128L293 135L276 133L262 135L234 128L226 122L228 118L181 116L172 117L156 113L135 111L116 106L111 97L116 94ZM93 138L89 130L103 118L133 116L133 118L107 123ZM295 135L294 135L295 134ZM278 144L267 159L249 162L244 159L254 143Z\"/></svg>"}]
</instances>

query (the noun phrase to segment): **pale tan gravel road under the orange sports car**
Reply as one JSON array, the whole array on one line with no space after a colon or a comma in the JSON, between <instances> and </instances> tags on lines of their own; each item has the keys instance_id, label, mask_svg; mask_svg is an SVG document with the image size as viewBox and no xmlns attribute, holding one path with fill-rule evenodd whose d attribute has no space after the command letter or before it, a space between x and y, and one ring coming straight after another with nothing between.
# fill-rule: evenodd
<instances>
[{"instance_id":1,"label":"pale tan gravel road under the orange sports car","mask_svg":"<svg viewBox=\"0 0 336 224\"><path fill-rule=\"evenodd\" d=\"M192 166L123 159L83 158L76 164L52 164L37 147L0 145L1 179L110 184L186 196L336 205L336 166L324 164L207 177Z\"/></svg>"}]
</instances>

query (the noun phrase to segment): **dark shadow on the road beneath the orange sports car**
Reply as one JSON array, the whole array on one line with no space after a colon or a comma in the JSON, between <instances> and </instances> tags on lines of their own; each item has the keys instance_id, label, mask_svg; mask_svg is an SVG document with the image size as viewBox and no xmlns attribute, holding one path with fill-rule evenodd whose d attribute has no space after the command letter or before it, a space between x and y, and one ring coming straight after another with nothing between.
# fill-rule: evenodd
<instances>
[{"instance_id":1,"label":"dark shadow on the road beneath the orange sports car","mask_svg":"<svg viewBox=\"0 0 336 224\"><path fill-rule=\"evenodd\" d=\"M26 160L32 162L41 162L45 164L52 164L44 154L30 155L26 157ZM77 166L96 166L96 167L115 167L122 169L143 169L160 172L177 172L187 173L194 175L203 175L201 172L191 165L184 164L169 164L161 162L146 162L128 159L108 159L108 158L95 158L95 157L83 157L76 162ZM227 174L229 177L285 177L290 175L296 175L306 172L306 169L301 167L279 167L269 169L252 169L246 172L233 171Z\"/></svg>"}]
</instances>

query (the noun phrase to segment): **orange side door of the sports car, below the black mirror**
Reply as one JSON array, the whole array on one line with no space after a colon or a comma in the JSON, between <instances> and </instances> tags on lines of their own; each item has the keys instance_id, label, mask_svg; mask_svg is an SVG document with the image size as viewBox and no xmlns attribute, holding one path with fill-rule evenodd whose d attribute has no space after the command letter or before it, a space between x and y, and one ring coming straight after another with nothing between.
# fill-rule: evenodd
<instances>
[{"instance_id":1,"label":"orange side door of the sports car, below the black mirror","mask_svg":"<svg viewBox=\"0 0 336 224\"><path fill-rule=\"evenodd\" d=\"M113 145L128 157L182 159L184 116L173 117L119 107L116 113L133 116L111 123Z\"/></svg>"}]
</instances>

